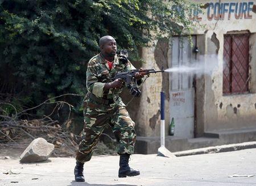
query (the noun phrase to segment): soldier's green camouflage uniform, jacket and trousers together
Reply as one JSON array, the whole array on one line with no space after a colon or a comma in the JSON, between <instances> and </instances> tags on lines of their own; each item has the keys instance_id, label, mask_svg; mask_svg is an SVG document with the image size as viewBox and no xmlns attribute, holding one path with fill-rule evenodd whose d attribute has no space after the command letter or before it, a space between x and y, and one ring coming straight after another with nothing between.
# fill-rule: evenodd
<instances>
[{"instance_id":1,"label":"soldier's green camouflage uniform, jacket and trousers together","mask_svg":"<svg viewBox=\"0 0 256 186\"><path fill-rule=\"evenodd\" d=\"M117 153L133 154L135 123L131 120L121 97L118 97L122 89L104 90L105 83L111 82L110 78L114 77L115 73L131 69L135 68L130 61L126 65L122 64L117 55L114 56L111 71L101 53L90 59L86 71L88 94L84 99L84 130L76 156L79 162L90 160L93 149L107 125L110 125L118 140Z\"/></svg>"}]
</instances>

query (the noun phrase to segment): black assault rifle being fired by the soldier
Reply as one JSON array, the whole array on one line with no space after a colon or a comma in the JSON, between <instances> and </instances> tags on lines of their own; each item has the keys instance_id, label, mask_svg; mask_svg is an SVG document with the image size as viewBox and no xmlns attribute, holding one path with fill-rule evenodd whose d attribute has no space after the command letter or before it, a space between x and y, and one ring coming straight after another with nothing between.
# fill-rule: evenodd
<instances>
[{"instance_id":1,"label":"black assault rifle being fired by the soldier","mask_svg":"<svg viewBox=\"0 0 256 186\"><path fill-rule=\"evenodd\" d=\"M136 82L136 78L135 78L135 73L137 72L140 75L145 76L145 75L150 75L150 73L164 72L164 70L162 69L161 71L155 71L155 69L134 69L127 72L118 72L114 76L114 78L112 78L112 80L116 80L120 78L121 80L123 80L124 84L130 90L130 93L135 97L139 97L141 96L141 90L139 90Z\"/></svg>"}]
</instances>

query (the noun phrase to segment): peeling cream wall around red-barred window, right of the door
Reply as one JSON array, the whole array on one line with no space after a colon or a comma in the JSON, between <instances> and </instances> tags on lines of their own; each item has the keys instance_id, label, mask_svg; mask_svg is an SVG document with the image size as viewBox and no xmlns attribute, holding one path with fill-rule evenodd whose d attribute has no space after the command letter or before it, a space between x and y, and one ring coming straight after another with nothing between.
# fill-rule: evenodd
<instances>
[{"instance_id":1,"label":"peeling cream wall around red-barred window, right of the door","mask_svg":"<svg viewBox=\"0 0 256 186\"><path fill-rule=\"evenodd\" d=\"M209 1L200 2L208 3ZM235 1L211 2L225 3ZM200 118L201 122L204 122L204 132L256 127L256 38L255 34L253 34L256 32L255 22L256 14L252 15L252 19L230 18L230 20L228 20L228 18L226 18L224 20L212 20L210 22L203 16L201 24L206 24L206 29L198 29L195 31L197 34L205 34L205 54L211 55L216 53L218 58L218 61L216 61L218 68L214 70L210 77L204 77L205 117ZM250 93L222 96L224 34L228 34L229 32L237 32L238 34L242 31L250 31L250 33L252 33L250 37ZM205 61L205 63L207 63L207 61ZM198 86L200 86L199 83L197 83L197 87Z\"/></svg>"}]
</instances>

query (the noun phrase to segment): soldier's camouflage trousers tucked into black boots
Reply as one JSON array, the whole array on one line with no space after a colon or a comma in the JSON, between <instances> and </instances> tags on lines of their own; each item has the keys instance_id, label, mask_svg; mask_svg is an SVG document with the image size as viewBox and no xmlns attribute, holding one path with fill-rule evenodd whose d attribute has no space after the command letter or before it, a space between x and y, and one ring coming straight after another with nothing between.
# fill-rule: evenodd
<instances>
[{"instance_id":1,"label":"soldier's camouflage trousers tucked into black boots","mask_svg":"<svg viewBox=\"0 0 256 186\"><path fill-rule=\"evenodd\" d=\"M110 126L117 139L118 154L133 154L136 133L135 123L124 106L99 105L89 98L84 101L84 129L76 160L88 162L100 135Z\"/></svg>"}]
</instances>

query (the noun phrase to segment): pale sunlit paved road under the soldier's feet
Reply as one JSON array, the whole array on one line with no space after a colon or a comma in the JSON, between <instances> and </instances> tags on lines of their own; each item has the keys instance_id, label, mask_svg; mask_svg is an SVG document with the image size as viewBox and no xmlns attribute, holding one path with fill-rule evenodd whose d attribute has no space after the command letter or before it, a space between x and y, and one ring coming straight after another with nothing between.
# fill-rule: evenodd
<instances>
[{"instance_id":1,"label":"pale sunlit paved road under the soldier's feet","mask_svg":"<svg viewBox=\"0 0 256 186\"><path fill-rule=\"evenodd\" d=\"M117 176L118 161L118 156L94 156L85 164L86 183L76 183L73 158L49 158L37 164L0 159L0 185L256 185L256 148L175 159L133 155L130 164L141 175L122 179ZM233 174L255 176L228 177Z\"/></svg>"}]
</instances>

